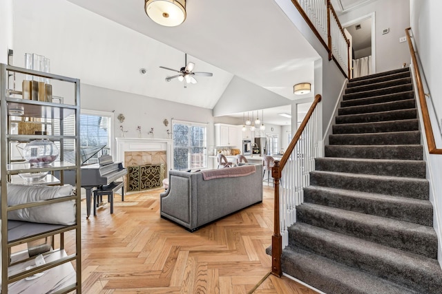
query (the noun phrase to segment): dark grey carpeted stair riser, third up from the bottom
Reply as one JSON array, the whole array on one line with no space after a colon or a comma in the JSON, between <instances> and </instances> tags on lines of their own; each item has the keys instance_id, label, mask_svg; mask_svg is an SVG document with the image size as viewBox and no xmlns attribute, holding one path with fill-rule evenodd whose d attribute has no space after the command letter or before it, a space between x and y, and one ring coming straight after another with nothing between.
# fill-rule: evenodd
<instances>
[{"instance_id":1,"label":"dark grey carpeted stair riser, third up from the bottom","mask_svg":"<svg viewBox=\"0 0 442 294\"><path fill-rule=\"evenodd\" d=\"M302 204L296 207L296 220L369 242L421 254L427 258L437 258L436 235L418 234L414 231L404 231L398 228L375 227L372 224L318 212L314 209L305 209Z\"/></svg>"}]
</instances>

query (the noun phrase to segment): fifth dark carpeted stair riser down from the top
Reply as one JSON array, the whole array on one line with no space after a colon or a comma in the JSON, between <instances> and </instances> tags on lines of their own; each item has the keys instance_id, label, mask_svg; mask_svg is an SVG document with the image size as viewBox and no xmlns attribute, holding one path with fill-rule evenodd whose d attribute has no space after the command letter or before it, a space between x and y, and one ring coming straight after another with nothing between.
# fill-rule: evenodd
<instances>
[{"instance_id":1,"label":"fifth dark carpeted stair riser down from the top","mask_svg":"<svg viewBox=\"0 0 442 294\"><path fill-rule=\"evenodd\" d=\"M390 112L392 110L399 110L399 109L412 109L415 107L416 107L416 101L414 99L409 99L403 101L378 103L378 104L363 105L363 106L344 107L338 109L338 114L340 116L349 115L349 114L369 114L373 112Z\"/></svg>"}]
</instances>

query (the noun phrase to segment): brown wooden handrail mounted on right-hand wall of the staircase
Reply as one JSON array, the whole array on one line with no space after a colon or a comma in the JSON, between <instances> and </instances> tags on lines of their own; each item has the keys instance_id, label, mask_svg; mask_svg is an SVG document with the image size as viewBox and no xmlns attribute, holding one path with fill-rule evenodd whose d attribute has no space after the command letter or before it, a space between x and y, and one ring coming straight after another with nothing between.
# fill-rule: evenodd
<instances>
[{"instance_id":1,"label":"brown wooden handrail mounted on right-hand wall of the staircase","mask_svg":"<svg viewBox=\"0 0 442 294\"><path fill-rule=\"evenodd\" d=\"M412 39L410 36L410 30L412 28L406 28L405 34L407 35L408 47L410 48L410 55L412 56L414 76L416 76L417 91L419 94L419 102L421 103L422 109L422 120L423 127L425 129L425 137L427 138L428 151L430 154L442 154L442 149L436 148L436 143L434 141L433 128L431 126L430 114L428 114L427 101L425 101L425 93L423 92L423 85L421 79L421 72L419 71L419 65L416 59L416 53L414 51Z\"/></svg>"}]
</instances>

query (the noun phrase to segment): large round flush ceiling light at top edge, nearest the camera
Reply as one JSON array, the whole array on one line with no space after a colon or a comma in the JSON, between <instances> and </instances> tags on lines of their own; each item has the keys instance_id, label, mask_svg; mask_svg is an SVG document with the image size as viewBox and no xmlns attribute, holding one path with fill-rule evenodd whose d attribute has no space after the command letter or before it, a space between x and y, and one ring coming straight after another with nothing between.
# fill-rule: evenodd
<instances>
[{"instance_id":1,"label":"large round flush ceiling light at top edge, nearest the camera","mask_svg":"<svg viewBox=\"0 0 442 294\"><path fill-rule=\"evenodd\" d=\"M155 23L175 27L186 19L186 0L144 0L144 10Z\"/></svg>"}]
</instances>

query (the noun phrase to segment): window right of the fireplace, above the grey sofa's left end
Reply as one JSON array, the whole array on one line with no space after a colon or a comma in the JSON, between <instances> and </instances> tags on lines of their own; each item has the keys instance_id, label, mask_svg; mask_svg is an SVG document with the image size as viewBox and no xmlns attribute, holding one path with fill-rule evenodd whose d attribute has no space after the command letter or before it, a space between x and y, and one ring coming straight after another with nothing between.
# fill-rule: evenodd
<instances>
[{"instance_id":1,"label":"window right of the fireplace, above the grey sofa's left end","mask_svg":"<svg viewBox=\"0 0 442 294\"><path fill-rule=\"evenodd\" d=\"M172 120L173 168L201 169L207 166L207 125Z\"/></svg>"}]
</instances>

